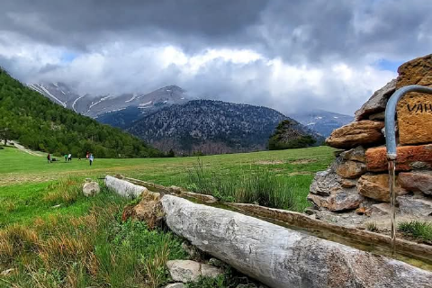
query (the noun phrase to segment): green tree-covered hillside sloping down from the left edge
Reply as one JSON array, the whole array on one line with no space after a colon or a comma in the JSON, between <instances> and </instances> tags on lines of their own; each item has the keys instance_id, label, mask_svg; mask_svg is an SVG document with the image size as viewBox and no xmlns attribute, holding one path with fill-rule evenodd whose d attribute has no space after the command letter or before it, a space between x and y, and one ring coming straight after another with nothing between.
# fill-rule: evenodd
<instances>
[{"instance_id":1,"label":"green tree-covered hillside sloping down from the left edge","mask_svg":"<svg viewBox=\"0 0 432 288\"><path fill-rule=\"evenodd\" d=\"M161 153L121 130L52 103L0 68L0 130L26 147L94 157L157 157ZM0 136L0 138L2 138Z\"/></svg>"}]
</instances>

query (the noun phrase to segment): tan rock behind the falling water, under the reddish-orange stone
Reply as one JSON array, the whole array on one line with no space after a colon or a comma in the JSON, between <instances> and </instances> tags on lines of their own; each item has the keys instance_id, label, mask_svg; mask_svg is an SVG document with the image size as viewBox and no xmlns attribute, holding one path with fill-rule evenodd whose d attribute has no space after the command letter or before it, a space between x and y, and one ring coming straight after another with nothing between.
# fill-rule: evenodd
<instances>
[{"instance_id":1,"label":"tan rock behind the falling water, under the reddish-orange stone","mask_svg":"<svg viewBox=\"0 0 432 288\"><path fill-rule=\"evenodd\" d=\"M363 175L358 179L357 191L365 197L390 202L389 175ZM396 193L402 195L409 192L397 185Z\"/></svg>"}]
</instances>

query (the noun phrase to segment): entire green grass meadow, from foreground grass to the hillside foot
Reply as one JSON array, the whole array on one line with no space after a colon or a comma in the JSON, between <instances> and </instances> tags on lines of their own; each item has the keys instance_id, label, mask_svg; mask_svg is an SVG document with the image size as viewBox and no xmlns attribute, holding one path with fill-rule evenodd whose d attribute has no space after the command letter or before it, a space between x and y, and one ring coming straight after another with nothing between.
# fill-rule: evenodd
<instances>
[{"instance_id":1,"label":"entire green grass meadow, from foreground grass to the hillside foot","mask_svg":"<svg viewBox=\"0 0 432 288\"><path fill-rule=\"evenodd\" d=\"M48 164L45 157L17 148L0 149L0 272L16 269L0 275L0 287L156 288L166 283L166 260L187 257L181 239L163 230L148 231L142 223L121 222L128 200L103 187L104 175L228 192L231 186L247 184L261 189L261 196L270 186L245 179L266 175L264 182L289 189L295 203L290 208L302 211L309 205L313 174L329 166L332 151L318 147L199 158L96 158L89 166L77 159ZM206 176L191 182L197 166ZM85 198L85 177L99 181L103 192ZM211 181L219 185L209 186ZM203 279L192 287L236 287L243 278L236 279L227 270L215 281Z\"/></svg>"}]
</instances>

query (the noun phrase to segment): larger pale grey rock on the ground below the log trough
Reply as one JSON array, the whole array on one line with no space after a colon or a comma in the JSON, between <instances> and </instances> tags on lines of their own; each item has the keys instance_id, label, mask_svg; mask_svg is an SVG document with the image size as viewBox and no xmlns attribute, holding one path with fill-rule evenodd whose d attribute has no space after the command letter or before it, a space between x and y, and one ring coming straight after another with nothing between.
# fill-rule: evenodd
<instances>
[{"instance_id":1,"label":"larger pale grey rock on the ground below the log trough","mask_svg":"<svg viewBox=\"0 0 432 288\"><path fill-rule=\"evenodd\" d=\"M166 262L166 267L174 281L183 283L197 282L201 276L216 278L222 275L217 267L191 260L171 260Z\"/></svg>"}]
</instances>

